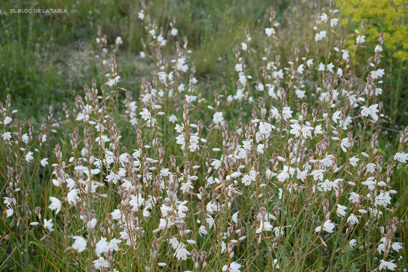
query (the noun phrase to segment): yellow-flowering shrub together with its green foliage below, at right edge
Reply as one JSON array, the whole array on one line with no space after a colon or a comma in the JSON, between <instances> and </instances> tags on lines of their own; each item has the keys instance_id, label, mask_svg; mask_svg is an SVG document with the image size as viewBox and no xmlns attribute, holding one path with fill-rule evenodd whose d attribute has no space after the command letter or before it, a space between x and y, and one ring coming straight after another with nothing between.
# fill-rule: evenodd
<instances>
[{"instance_id":1,"label":"yellow-flowering shrub together with its green foliage below, at right edge","mask_svg":"<svg viewBox=\"0 0 408 272\"><path fill-rule=\"evenodd\" d=\"M408 118L408 1L406 0L340 0L338 6L348 28L360 29L367 20L367 41L375 42L384 32L384 51L388 80L384 85L384 103L388 114L397 120ZM356 61L365 61L359 54Z\"/></svg>"}]
</instances>

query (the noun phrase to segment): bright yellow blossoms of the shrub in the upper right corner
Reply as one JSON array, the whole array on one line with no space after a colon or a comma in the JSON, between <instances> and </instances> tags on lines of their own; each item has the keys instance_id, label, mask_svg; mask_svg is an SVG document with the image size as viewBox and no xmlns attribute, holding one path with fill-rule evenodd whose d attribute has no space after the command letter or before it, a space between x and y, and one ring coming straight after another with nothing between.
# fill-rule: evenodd
<instances>
[{"instance_id":1,"label":"bright yellow blossoms of the shrub in the upper right corner","mask_svg":"<svg viewBox=\"0 0 408 272\"><path fill-rule=\"evenodd\" d=\"M340 0L337 4L348 17L343 19L344 24L359 24L366 19L367 40L377 39L382 31L385 49L394 58L408 59L408 0Z\"/></svg>"}]
</instances>

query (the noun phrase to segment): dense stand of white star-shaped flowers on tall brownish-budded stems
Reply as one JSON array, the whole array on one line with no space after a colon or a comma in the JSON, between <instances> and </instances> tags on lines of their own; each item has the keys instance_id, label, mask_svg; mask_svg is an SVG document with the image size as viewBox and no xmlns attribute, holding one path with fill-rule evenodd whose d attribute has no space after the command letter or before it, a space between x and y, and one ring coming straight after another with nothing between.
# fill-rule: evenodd
<instances>
[{"instance_id":1,"label":"dense stand of white star-shaped flowers on tall brownish-budded stems","mask_svg":"<svg viewBox=\"0 0 408 272\"><path fill-rule=\"evenodd\" d=\"M198 89L186 37L171 61L162 56L179 38L175 19L165 32L142 3L140 56L157 71L136 99L120 87L99 28L104 82L85 84L72 108L50 107L39 128L31 120L27 128L10 95L0 103L6 234L67 269L399 267L393 188L408 160L408 127L395 150L380 146L382 34L359 78L345 37L334 36L333 8L318 14L313 45L295 44L287 61L273 50L271 9L264 52L247 28L233 82L214 96ZM365 42L364 21L357 32L352 52Z\"/></svg>"}]
</instances>

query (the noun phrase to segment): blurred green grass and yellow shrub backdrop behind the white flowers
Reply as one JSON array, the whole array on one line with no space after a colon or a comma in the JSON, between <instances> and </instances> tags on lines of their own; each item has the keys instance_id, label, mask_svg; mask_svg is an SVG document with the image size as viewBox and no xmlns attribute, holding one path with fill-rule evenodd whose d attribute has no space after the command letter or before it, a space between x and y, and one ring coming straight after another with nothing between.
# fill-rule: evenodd
<instances>
[{"instance_id":1,"label":"blurred green grass and yellow shrub backdrop behind the white flowers","mask_svg":"<svg viewBox=\"0 0 408 272\"><path fill-rule=\"evenodd\" d=\"M294 42L313 40L316 11L327 8L329 1L152 0L146 1L146 6L159 25L168 26L172 17L176 18L179 36L187 36L193 50L200 87L212 92L224 84L235 88L233 69L228 69L235 65L234 45L243 40L245 27L254 31L268 25L270 7L281 22L279 31L286 32L282 36L292 37L277 43L276 51L286 61L293 54ZM360 52L355 61L366 63L378 33L385 32L382 101L386 112L401 120L397 125L404 125L408 116L407 0L340 0L337 6L344 23L339 38L360 29L362 19L367 19L367 52ZM66 9L67 13L10 13L11 9L50 8ZM117 36L123 39L117 53L122 87L137 95L141 79L151 78L155 71L154 60L149 63L139 57L145 30L137 14L138 1L6 0L0 9L0 100L11 93L14 105L23 111L20 114L35 122L48 112L50 104L58 110L62 102L73 103L84 83L97 78L93 50L99 25L108 35L108 44ZM250 35L256 42L258 35L265 34Z\"/></svg>"}]
</instances>

